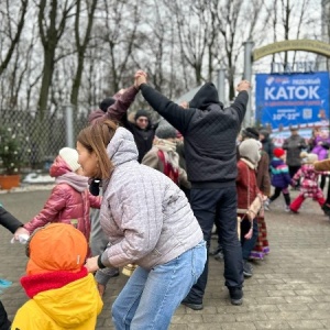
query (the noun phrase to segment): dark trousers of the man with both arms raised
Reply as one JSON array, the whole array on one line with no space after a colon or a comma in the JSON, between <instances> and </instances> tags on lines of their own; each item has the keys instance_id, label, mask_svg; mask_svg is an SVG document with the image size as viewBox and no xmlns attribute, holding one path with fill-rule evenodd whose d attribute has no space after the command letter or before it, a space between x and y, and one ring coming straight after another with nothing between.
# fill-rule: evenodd
<instances>
[{"instance_id":1,"label":"dark trousers of the man with both arms raised","mask_svg":"<svg viewBox=\"0 0 330 330\"><path fill-rule=\"evenodd\" d=\"M243 286L242 249L238 239L237 188L191 189L190 205L204 233L207 249L210 248L211 231L218 223L220 241L223 248L224 278L228 288ZM186 300L202 302L208 282L209 257L197 283L190 289Z\"/></svg>"}]
</instances>

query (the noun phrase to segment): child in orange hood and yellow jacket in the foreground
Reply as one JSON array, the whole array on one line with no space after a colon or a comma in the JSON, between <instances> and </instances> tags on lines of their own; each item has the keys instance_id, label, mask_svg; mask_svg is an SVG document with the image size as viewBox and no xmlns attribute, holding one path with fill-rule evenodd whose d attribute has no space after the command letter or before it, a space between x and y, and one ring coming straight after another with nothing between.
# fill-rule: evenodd
<instances>
[{"instance_id":1,"label":"child in orange hood and yellow jacket in the foreground","mask_svg":"<svg viewBox=\"0 0 330 330\"><path fill-rule=\"evenodd\" d=\"M12 329L88 330L96 328L102 301L85 260L84 234L66 223L35 231L26 245L30 257L21 278L30 300L16 312Z\"/></svg>"}]
</instances>

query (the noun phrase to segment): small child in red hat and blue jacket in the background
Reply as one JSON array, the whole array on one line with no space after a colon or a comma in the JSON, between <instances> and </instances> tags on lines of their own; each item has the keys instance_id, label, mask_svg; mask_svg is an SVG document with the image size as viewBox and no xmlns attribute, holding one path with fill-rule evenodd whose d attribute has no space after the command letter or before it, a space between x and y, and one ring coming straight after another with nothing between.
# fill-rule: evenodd
<instances>
[{"instance_id":1,"label":"small child in red hat and blue jacket in the background","mask_svg":"<svg viewBox=\"0 0 330 330\"><path fill-rule=\"evenodd\" d=\"M292 184L288 166L284 163L285 151L280 147L275 147L273 151L274 157L271 161L272 186L275 188L274 194L265 204L265 209L268 210L270 204L273 202L280 193L285 200L285 211L290 211L290 195L288 186Z\"/></svg>"}]
</instances>

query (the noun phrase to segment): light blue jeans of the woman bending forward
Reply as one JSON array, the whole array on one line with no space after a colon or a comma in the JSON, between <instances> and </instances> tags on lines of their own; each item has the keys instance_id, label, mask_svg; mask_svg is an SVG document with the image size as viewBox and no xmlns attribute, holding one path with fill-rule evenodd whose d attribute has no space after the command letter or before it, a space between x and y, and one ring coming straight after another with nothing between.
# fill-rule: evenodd
<instances>
[{"instance_id":1,"label":"light blue jeans of the woman bending forward","mask_svg":"<svg viewBox=\"0 0 330 330\"><path fill-rule=\"evenodd\" d=\"M176 308L202 273L206 242L151 271L138 267L112 306L117 330L165 330Z\"/></svg>"}]
</instances>

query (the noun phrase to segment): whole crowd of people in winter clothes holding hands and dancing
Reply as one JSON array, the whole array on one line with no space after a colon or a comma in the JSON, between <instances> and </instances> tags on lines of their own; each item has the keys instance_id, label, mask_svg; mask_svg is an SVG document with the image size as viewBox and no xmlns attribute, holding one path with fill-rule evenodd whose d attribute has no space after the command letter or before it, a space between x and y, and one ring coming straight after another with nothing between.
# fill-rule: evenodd
<instances>
[{"instance_id":1,"label":"whole crowd of people in winter clothes holding hands and dancing","mask_svg":"<svg viewBox=\"0 0 330 330\"><path fill-rule=\"evenodd\" d=\"M326 200L310 184L330 168L314 156L326 136L308 144L293 129L275 148L268 131L242 129L250 88L242 80L226 108L206 82L177 105L139 70L133 86L100 102L76 148L54 160L56 184L40 213L21 223L0 208L14 239L30 237L21 279L30 300L13 329L95 329L108 282L128 265L132 274L111 307L116 329L168 329L180 304L204 308L211 255L223 261L230 302L243 304L250 261L270 253L264 209L283 194L288 211L312 197L330 213L330 194ZM139 92L160 122L146 110L130 118ZM289 186L300 189L294 201ZM0 305L2 329L10 321Z\"/></svg>"}]
</instances>

